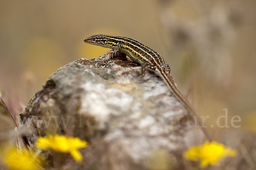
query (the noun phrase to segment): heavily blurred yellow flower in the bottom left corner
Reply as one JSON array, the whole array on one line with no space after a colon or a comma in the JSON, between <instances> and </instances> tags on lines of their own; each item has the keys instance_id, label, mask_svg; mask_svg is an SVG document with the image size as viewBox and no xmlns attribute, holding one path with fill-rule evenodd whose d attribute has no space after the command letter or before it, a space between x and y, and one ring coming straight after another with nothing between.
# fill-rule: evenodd
<instances>
[{"instance_id":1,"label":"heavily blurred yellow flower in the bottom left corner","mask_svg":"<svg viewBox=\"0 0 256 170\"><path fill-rule=\"evenodd\" d=\"M12 170L37 170L39 164L28 151L18 152L16 147L10 149L5 155L5 161Z\"/></svg>"}]
</instances>

